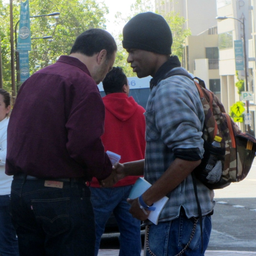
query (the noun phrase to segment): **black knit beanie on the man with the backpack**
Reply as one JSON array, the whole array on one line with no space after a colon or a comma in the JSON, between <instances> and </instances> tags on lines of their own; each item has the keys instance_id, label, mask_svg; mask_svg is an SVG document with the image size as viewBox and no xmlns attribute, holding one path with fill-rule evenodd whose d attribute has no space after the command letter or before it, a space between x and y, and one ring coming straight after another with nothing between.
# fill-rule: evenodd
<instances>
[{"instance_id":1,"label":"black knit beanie on the man with the backpack","mask_svg":"<svg viewBox=\"0 0 256 256\"><path fill-rule=\"evenodd\" d=\"M163 16L143 12L124 26L122 45L125 49L171 54L172 32Z\"/></svg>"}]
</instances>

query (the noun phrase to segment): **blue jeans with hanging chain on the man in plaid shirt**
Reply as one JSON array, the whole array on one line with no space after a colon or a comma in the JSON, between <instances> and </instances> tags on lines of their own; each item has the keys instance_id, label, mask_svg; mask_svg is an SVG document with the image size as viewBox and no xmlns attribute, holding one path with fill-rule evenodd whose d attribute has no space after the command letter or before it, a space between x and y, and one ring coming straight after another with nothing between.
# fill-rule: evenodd
<instances>
[{"instance_id":1,"label":"blue jeans with hanging chain on the man in plaid shirt","mask_svg":"<svg viewBox=\"0 0 256 256\"><path fill-rule=\"evenodd\" d=\"M188 219L183 211L179 218L149 226L148 247L156 256L175 256L186 246L193 230L194 219ZM195 235L182 256L204 256L212 229L211 216L203 217L203 246L201 253L201 231L199 219ZM146 235L145 235L146 237ZM145 250L147 250L145 248ZM151 256L147 250L146 256Z\"/></svg>"}]
</instances>

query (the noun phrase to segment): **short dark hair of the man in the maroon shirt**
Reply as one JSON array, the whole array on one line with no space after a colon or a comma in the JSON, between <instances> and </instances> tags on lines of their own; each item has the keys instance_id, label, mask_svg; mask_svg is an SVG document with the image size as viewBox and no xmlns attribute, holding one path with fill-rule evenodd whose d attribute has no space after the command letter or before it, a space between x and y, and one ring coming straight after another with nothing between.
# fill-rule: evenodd
<instances>
[{"instance_id":1,"label":"short dark hair of the man in the maroon shirt","mask_svg":"<svg viewBox=\"0 0 256 256\"><path fill-rule=\"evenodd\" d=\"M117 51L113 36L104 29L88 29L76 38L70 54L78 52L91 57L103 49L107 51L107 59Z\"/></svg>"}]
</instances>

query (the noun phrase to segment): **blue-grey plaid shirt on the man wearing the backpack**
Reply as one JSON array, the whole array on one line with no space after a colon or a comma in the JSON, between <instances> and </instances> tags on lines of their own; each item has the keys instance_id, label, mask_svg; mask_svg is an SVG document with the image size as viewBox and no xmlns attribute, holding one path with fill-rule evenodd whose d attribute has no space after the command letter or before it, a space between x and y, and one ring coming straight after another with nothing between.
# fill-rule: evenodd
<instances>
[{"instance_id":1,"label":"blue-grey plaid shirt on the man wearing the backpack","mask_svg":"<svg viewBox=\"0 0 256 256\"><path fill-rule=\"evenodd\" d=\"M178 67L177 69L180 69ZM176 69L176 68L175 68ZM146 154L145 179L153 184L175 159L175 150L190 152L201 159L204 154L202 129L204 110L198 90L185 76L171 76L151 90L145 112ZM197 160L197 159L195 159ZM198 181L198 198L203 215L212 211L214 192ZM198 216L192 177L189 175L168 195L169 201L159 221L170 221L179 216L183 206L188 218Z\"/></svg>"}]
</instances>

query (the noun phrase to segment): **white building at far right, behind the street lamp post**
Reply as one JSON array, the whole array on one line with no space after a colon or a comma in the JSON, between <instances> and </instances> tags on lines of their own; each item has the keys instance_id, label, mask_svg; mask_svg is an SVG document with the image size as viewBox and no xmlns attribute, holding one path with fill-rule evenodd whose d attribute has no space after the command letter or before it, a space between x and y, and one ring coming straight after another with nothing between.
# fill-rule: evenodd
<instances>
[{"instance_id":1,"label":"white building at far right, behind the street lamp post","mask_svg":"<svg viewBox=\"0 0 256 256\"><path fill-rule=\"evenodd\" d=\"M240 100L246 103L246 100L237 93L238 89L235 86L238 81L236 73L238 73L239 79L244 79L244 70L236 72L236 64L238 62L236 62L237 59L235 58L234 41L243 40L244 32L247 49L248 90L254 94L253 76L255 78L255 61L253 60L253 57L255 57L255 41L252 37L252 30L253 26L255 26L255 21L252 22L253 19L251 17L255 10L253 9L251 2L254 2L255 4L254 0L232 0L221 8L218 8L218 16L228 17L226 20L218 22L221 102L224 103L226 111L230 111L230 107ZM243 19L245 30L242 23ZM251 128L255 131L255 99L250 100L249 102L249 112L252 115ZM247 106L245 106L245 109L247 110ZM244 123L240 123L240 127L242 130L246 130Z\"/></svg>"}]
</instances>

